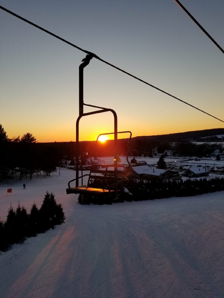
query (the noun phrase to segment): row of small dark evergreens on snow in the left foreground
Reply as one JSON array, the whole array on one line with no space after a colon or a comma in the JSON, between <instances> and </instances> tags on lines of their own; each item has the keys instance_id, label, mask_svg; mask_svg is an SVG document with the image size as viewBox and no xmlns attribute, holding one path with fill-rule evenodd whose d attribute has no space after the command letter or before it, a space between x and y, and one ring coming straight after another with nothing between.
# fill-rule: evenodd
<instances>
[{"instance_id":1,"label":"row of small dark evergreens on snow in the left foreground","mask_svg":"<svg viewBox=\"0 0 224 298\"><path fill-rule=\"evenodd\" d=\"M23 205L21 207L18 204L15 210L10 205L6 220L0 219L0 250L6 251L13 243L22 243L25 237L33 237L50 228L53 229L64 220L62 204L57 204L54 194L48 191L40 209L33 202L30 213L27 213Z\"/></svg>"}]
</instances>

